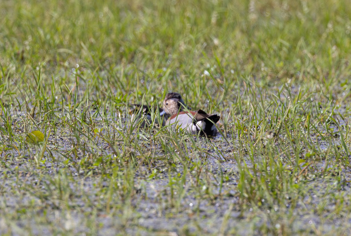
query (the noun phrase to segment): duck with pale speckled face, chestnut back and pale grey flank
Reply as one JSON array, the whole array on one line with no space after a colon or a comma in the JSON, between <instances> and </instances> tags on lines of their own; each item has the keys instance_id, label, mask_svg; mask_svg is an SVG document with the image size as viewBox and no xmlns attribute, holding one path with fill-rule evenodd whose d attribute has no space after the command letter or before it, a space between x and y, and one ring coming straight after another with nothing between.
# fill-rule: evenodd
<instances>
[{"instance_id":1,"label":"duck with pale speckled face, chestnut back and pale grey flank","mask_svg":"<svg viewBox=\"0 0 351 236\"><path fill-rule=\"evenodd\" d=\"M215 124L220 116L217 114L207 114L203 110L190 111L184 103L174 97L165 99L163 106L168 116L165 125L171 126L172 129L186 130L204 136L215 136L218 132Z\"/></svg>"}]
</instances>

